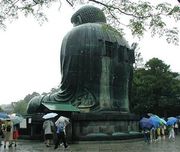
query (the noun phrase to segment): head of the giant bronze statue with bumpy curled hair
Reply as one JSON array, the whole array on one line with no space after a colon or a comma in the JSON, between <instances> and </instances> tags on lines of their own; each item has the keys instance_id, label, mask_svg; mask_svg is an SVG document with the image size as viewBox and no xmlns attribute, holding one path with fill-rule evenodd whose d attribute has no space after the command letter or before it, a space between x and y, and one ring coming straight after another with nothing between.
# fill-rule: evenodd
<instances>
[{"instance_id":1,"label":"head of the giant bronze statue with bumpy curled hair","mask_svg":"<svg viewBox=\"0 0 180 152\"><path fill-rule=\"evenodd\" d=\"M81 7L71 17L74 26L96 22L106 23L106 17L101 9L90 5Z\"/></svg>"}]
</instances>

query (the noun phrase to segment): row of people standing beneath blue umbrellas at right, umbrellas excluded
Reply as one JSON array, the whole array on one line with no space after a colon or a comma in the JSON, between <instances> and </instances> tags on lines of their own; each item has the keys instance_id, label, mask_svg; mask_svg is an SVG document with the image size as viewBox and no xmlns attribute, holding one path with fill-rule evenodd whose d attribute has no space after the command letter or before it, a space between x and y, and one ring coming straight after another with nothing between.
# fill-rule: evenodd
<instances>
[{"instance_id":1,"label":"row of people standing beneath blue umbrellas at right, umbrellas excluded","mask_svg":"<svg viewBox=\"0 0 180 152\"><path fill-rule=\"evenodd\" d=\"M178 134L178 123L176 122L169 126L160 125L157 128L143 128L143 134L144 140L147 143L165 140L166 136L168 136L169 140L175 141L175 135Z\"/></svg>"}]
</instances>

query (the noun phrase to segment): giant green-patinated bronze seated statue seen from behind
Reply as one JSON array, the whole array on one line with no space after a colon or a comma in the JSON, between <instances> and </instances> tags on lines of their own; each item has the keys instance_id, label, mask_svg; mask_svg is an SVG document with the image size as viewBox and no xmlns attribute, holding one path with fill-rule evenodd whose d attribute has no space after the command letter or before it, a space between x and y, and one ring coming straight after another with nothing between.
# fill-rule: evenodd
<instances>
[{"instance_id":1,"label":"giant green-patinated bronze seated statue seen from behind","mask_svg":"<svg viewBox=\"0 0 180 152\"><path fill-rule=\"evenodd\" d=\"M74 27L61 45L59 91L32 99L28 113L49 102L64 109L70 103L82 112L129 112L134 50L94 6L79 9L71 22Z\"/></svg>"}]
</instances>

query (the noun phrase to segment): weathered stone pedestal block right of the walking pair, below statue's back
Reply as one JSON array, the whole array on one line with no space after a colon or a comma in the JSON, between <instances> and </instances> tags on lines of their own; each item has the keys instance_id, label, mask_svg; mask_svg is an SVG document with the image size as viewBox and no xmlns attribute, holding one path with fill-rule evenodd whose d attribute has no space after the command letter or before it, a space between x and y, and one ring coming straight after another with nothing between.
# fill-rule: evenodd
<instances>
[{"instance_id":1,"label":"weathered stone pedestal block right of the walking pair, below statue's back","mask_svg":"<svg viewBox=\"0 0 180 152\"><path fill-rule=\"evenodd\" d=\"M139 117L119 112L72 115L72 140L120 140L137 138Z\"/></svg>"}]
</instances>

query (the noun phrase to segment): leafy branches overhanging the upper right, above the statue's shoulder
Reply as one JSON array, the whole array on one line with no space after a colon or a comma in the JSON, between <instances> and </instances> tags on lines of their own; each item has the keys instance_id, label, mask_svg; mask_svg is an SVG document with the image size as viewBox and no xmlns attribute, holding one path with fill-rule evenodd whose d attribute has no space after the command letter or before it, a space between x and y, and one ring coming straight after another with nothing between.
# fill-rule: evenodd
<instances>
[{"instance_id":1,"label":"leafy branches overhanging the upper right, above the statue's shoulder","mask_svg":"<svg viewBox=\"0 0 180 152\"><path fill-rule=\"evenodd\" d=\"M90 0L97 3L95 0ZM102 2L102 1L98 1ZM100 3L103 5L102 3ZM168 43L179 43L178 29L175 22L180 20L180 7L169 3L160 3L157 6L147 1L132 2L109 1L103 5L108 22L116 29L130 29L133 36L143 37L146 31L152 36L164 37ZM174 22L168 27L166 23ZM121 30L122 31L122 30Z\"/></svg>"}]
</instances>

